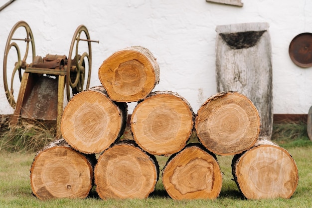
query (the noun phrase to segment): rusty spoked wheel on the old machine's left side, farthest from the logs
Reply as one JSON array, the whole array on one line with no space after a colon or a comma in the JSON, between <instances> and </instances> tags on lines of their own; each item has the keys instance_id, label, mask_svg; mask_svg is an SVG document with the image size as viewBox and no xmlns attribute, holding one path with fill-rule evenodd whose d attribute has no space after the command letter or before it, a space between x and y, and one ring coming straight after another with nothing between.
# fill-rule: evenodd
<instances>
[{"instance_id":1,"label":"rusty spoked wheel on the old machine's left side, farthest from the logs","mask_svg":"<svg viewBox=\"0 0 312 208\"><path fill-rule=\"evenodd\" d=\"M14 34L16 37L13 37ZM25 45L22 45L22 47L19 47L15 41L20 41L20 42L23 41L25 42ZM32 54L28 54L30 50L29 45L31 46L30 52ZM8 60L12 55L12 54L9 54L9 51L12 48L16 50L17 60L15 63L12 60ZM24 52L23 57L22 57L21 52ZM28 59L32 58L29 61L31 63L34 60L35 55L36 55L35 43L34 43L33 35L32 35L29 25L24 21L17 22L11 29L8 35L8 38L6 40L4 57L3 57L3 84L4 84L5 95L10 106L14 109L16 107L16 100L14 96L16 97L18 96L18 91L17 93L14 94L14 89L15 91L19 89L22 74L23 74L22 69L25 69L27 65L26 63L27 58ZM9 65L12 66L13 68L12 72L11 72L11 68L8 68ZM11 76L9 80L7 79L8 76ZM18 76L19 81L16 80L15 76Z\"/></svg>"}]
</instances>

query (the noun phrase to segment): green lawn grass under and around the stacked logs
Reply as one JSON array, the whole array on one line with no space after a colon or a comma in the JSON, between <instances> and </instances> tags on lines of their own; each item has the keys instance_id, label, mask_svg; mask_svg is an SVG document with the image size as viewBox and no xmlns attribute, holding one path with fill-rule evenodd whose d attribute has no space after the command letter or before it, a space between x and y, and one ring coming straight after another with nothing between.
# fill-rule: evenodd
<instances>
[{"instance_id":1,"label":"green lawn grass under and around the stacked logs","mask_svg":"<svg viewBox=\"0 0 312 208\"><path fill-rule=\"evenodd\" d=\"M102 200L93 189L86 199L55 199L40 201L32 196L29 169L34 152L0 150L0 208L311 208L312 207L312 142L305 133L306 124L275 126L273 141L289 151L299 170L299 185L289 200L243 199L232 180L233 156L217 156L223 172L223 186L215 200L172 200L166 194L160 179L156 190L145 200ZM295 129L290 133L290 128ZM297 129L297 130L296 130ZM298 133L300 131L300 133ZM2 134L3 135L3 134ZM283 136L284 135L284 136ZM3 137L1 137L3 143ZM167 158L157 156L160 170Z\"/></svg>"}]
</instances>

